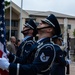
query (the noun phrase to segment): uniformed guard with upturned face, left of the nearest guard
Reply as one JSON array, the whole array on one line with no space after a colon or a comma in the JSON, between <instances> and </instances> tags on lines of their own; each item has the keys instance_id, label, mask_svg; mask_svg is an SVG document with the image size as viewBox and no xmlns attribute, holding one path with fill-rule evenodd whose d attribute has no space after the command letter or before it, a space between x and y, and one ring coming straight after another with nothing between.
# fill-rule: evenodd
<instances>
[{"instance_id":1,"label":"uniformed guard with upturned face, left of the nearest guard","mask_svg":"<svg viewBox=\"0 0 75 75\"><path fill-rule=\"evenodd\" d=\"M33 37L36 36L37 30L36 30L36 24L35 22L30 19L28 23L24 24L23 30L21 31L24 35L24 39L20 46L18 47L18 51L16 55L9 54L9 62L13 63L27 63L27 55L30 53L31 46L35 43L33 40ZM29 60L29 62L31 62Z\"/></svg>"}]
</instances>

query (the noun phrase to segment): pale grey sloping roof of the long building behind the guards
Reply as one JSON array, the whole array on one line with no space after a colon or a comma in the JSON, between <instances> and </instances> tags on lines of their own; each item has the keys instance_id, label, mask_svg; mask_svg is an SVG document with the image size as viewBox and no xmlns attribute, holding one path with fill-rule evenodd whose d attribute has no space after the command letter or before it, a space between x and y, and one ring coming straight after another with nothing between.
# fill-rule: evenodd
<instances>
[{"instance_id":1,"label":"pale grey sloping roof of the long building behind the guards","mask_svg":"<svg viewBox=\"0 0 75 75\"><path fill-rule=\"evenodd\" d=\"M75 16L57 13L53 11L34 11L34 10L25 10L25 11L29 15L35 15L35 16L48 16L50 14L54 14L56 17L59 17L59 18L75 18Z\"/></svg>"}]
</instances>

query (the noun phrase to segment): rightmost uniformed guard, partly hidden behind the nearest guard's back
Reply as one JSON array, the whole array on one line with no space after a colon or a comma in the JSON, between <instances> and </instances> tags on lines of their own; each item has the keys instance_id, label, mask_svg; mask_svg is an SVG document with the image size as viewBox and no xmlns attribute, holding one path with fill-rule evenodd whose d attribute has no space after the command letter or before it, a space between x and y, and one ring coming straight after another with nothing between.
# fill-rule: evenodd
<instances>
[{"instance_id":1,"label":"rightmost uniformed guard, partly hidden behind the nearest guard's back","mask_svg":"<svg viewBox=\"0 0 75 75\"><path fill-rule=\"evenodd\" d=\"M70 60L65 60L64 57L64 46L62 46L62 34L55 35L52 37L52 41L56 50L56 58L52 66L51 75L65 75L65 66L70 63Z\"/></svg>"}]
</instances>

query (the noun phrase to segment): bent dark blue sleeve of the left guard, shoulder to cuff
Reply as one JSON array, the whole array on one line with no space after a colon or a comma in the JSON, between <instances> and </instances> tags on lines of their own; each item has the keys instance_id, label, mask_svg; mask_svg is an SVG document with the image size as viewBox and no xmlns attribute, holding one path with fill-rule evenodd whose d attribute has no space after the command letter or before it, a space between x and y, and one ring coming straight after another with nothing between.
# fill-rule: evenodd
<instances>
[{"instance_id":1,"label":"bent dark blue sleeve of the left guard, shoulder to cuff","mask_svg":"<svg viewBox=\"0 0 75 75\"><path fill-rule=\"evenodd\" d=\"M26 43L25 46L23 47L23 52L20 52L20 54L22 53L22 56L18 57L16 55L10 54L9 55L9 61L13 62L13 63L20 63L20 64L25 64L27 63L27 56L30 54L31 52L31 46L33 45L32 42Z\"/></svg>"}]
</instances>

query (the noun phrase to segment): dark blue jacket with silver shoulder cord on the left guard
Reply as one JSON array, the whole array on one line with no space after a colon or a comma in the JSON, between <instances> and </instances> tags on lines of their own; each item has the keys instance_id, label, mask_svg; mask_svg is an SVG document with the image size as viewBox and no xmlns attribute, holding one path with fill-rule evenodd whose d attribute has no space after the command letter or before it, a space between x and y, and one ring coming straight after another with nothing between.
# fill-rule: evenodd
<instances>
[{"instance_id":1,"label":"dark blue jacket with silver shoulder cord on the left guard","mask_svg":"<svg viewBox=\"0 0 75 75\"><path fill-rule=\"evenodd\" d=\"M26 40L24 40L18 48L17 55L10 54L8 56L9 62L21 63L21 64L27 63L28 61L26 60L27 56L30 53L30 48L32 47L34 43L35 41L33 41L33 37L29 37ZM32 59L28 62L31 62L31 61Z\"/></svg>"}]
</instances>

